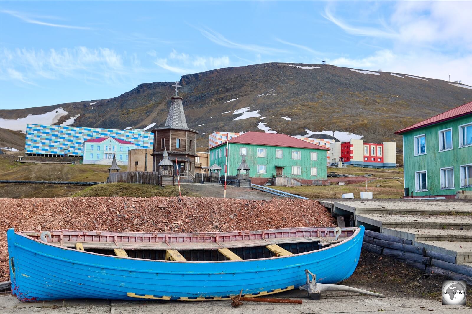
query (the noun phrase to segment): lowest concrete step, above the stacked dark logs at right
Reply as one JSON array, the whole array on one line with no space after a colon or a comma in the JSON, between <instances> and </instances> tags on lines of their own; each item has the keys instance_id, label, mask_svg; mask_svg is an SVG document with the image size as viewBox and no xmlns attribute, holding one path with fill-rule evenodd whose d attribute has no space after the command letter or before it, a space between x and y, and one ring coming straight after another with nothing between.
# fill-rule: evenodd
<instances>
[{"instance_id":1,"label":"lowest concrete step, above the stacked dark logs at right","mask_svg":"<svg viewBox=\"0 0 472 314\"><path fill-rule=\"evenodd\" d=\"M472 242L417 241L416 246L455 257L455 264L472 263Z\"/></svg>"}]
</instances>

